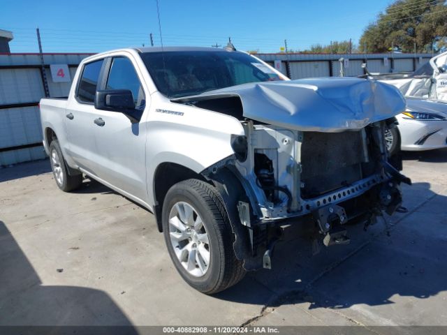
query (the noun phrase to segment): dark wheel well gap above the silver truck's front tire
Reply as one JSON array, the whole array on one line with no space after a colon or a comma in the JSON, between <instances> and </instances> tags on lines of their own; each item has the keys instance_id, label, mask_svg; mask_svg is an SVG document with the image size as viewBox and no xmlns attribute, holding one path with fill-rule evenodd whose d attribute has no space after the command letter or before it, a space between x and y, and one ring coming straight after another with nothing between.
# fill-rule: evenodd
<instances>
[{"instance_id":1,"label":"dark wheel well gap above the silver truck's front tire","mask_svg":"<svg viewBox=\"0 0 447 335\"><path fill-rule=\"evenodd\" d=\"M163 201L169 189L180 181L187 179L200 179L205 181L205 178L193 170L176 163L161 163L154 174L154 197L155 207L154 214L159 231L163 231L161 225L161 211L163 209Z\"/></svg>"}]
</instances>

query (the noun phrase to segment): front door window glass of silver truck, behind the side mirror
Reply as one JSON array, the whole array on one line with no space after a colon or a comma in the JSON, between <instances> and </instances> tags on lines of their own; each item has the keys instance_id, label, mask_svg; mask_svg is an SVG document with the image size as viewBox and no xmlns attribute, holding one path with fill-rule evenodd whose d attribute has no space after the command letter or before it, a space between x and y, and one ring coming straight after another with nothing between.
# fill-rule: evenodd
<instances>
[{"instance_id":1,"label":"front door window glass of silver truck, behind the side mirror","mask_svg":"<svg viewBox=\"0 0 447 335\"><path fill-rule=\"evenodd\" d=\"M112 61L106 89L130 89L137 110L145 107L145 93L130 59L115 57Z\"/></svg>"}]
</instances>

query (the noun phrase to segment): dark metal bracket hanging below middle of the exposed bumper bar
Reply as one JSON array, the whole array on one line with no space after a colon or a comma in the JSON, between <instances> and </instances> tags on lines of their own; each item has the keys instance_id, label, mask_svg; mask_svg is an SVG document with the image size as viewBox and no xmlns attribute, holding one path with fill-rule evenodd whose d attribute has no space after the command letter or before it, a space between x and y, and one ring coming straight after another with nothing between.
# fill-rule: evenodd
<instances>
[{"instance_id":1,"label":"dark metal bracket hanging below middle of the exposed bumper bar","mask_svg":"<svg viewBox=\"0 0 447 335\"><path fill-rule=\"evenodd\" d=\"M351 239L346 236L346 229L342 228L348 221L343 207L328 205L317 209L313 214L321 234L325 235L323 238L325 246L349 244Z\"/></svg>"}]
</instances>

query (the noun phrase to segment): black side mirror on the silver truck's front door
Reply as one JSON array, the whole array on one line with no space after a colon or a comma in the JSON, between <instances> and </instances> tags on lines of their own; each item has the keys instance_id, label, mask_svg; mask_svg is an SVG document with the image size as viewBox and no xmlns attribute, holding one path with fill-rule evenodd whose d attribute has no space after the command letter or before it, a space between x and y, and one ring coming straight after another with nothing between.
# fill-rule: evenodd
<instances>
[{"instance_id":1,"label":"black side mirror on the silver truck's front door","mask_svg":"<svg viewBox=\"0 0 447 335\"><path fill-rule=\"evenodd\" d=\"M135 102L130 89L105 89L96 91L95 108L98 110L127 112L135 110Z\"/></svg>"}]
</instances>

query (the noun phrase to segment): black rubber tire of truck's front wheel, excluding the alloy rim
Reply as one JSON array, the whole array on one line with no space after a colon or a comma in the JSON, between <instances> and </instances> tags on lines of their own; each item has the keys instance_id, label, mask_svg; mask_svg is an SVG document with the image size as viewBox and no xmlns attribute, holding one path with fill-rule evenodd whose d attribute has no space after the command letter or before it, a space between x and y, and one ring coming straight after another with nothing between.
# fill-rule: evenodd
<instances>
[{"instance_id":1,"label":"black rubber tire of truck's front wheel, excluding the alloy rim","mask_svg":"<svg viewBox=\"0 0 447 335\"><path fill-rule=\"evenodd\" d=\"M174 205L186 202L202 218L210 248L210 263L203 276L193 276L180 263L170 240L169 216ZM223 200L214 186L198 179L188 179L175 184L163 202L163 235L170 258L180 276L196 290L208 295L226 290L244 278L242 261L237 260L234 236Z\"/></svg>"}]
</instances>

